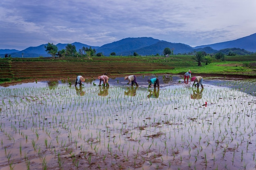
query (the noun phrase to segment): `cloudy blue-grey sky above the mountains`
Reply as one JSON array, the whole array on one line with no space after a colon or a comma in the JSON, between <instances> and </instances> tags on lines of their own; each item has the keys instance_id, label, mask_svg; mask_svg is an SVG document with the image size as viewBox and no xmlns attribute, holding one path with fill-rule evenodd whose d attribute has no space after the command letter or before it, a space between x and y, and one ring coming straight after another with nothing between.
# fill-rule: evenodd
<instances>
[{"instance_id":1,"label":"cloudy blue-grey sky above the mountains","mask_svg":"<svg viewBox=\"0 0 256 170\"><path fill-rule=\"evenodd\" d=\"M256 33L256 0L1 0L0 49L152 37L190 46Z\"/></svg>"}]
</instances>

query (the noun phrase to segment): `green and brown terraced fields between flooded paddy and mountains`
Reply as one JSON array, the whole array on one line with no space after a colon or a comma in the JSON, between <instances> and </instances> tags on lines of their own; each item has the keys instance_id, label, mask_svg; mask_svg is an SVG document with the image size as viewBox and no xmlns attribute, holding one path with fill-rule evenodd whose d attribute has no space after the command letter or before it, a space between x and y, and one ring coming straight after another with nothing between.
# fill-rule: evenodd
<instances>
[{"instance_id":1,"label":"green and brown terraced fields between flooded paddy and mountains","mask_svg":"<svg viewBox=\"0 0 256 170\"><path fill-rule=\"evenodd\" d=\"M94 79L108 73L110 77L136 74L183 74L189 69L193 75L220 74L251 75L256 77L256 56L227 56L221 61L213 58L211 64L197 66L192 56L174 55L143 57L65 57L52 59L38 58L2 58L0 59L0 83L21 81L24 79L67 79L83 75Z\"/></svg>"}]
</instances>

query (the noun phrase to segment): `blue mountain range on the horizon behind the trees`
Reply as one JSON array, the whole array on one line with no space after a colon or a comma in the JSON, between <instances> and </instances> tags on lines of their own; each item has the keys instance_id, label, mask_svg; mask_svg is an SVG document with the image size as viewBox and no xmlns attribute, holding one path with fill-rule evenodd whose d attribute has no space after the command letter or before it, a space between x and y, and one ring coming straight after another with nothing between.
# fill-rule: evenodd
<instances>
[{"instance_id":1,"label":"blue mountain range on the horizon behind the trees","mask_svg":"<svg viewBox=\"0 0 256 170\"><path fill-rule=\"evenodd\" d=\"M65 49L67 44L56 44L58 51ZM154 38L141 37L141 38L125 38L116 42L105 44L103 46L90 46L82 44L80 42L74 42L72 45L76 46L76 50L82 49L82 47L88 47L96 50L96 53L102 53L105 56L109 56L110 53L115 52L116 55L133 55L136 52L139 55L163 55L163 51L166 47L173 51L173 54L188 54L195 51L205 51L206 53L217 53L219 50L228 48L243 49L248 53L256 52L256 33L247 37L239 38L237 40L220 42L216 44L208 44L202 46L191 47L182 43L172 43L163 40L157 40ZM11 57L50 57L45 51L47 44L42 44L36 47L28 47L22 51L15 49L0 49L0 56L4 57L5 54L10 54Z\"/></svg>"}]
</instances>

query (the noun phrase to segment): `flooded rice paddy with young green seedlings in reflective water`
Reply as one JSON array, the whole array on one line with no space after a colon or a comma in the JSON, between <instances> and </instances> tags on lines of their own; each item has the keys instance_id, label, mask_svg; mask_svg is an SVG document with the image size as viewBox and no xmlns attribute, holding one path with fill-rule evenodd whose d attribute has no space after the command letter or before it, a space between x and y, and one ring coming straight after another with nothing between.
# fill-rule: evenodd
<instances>
[{"instance_id":1,"label":"flooded rice paddy with young green seedlings in reflective water","mask_svg":"<svg viewBox=\"0 0 256 170\"><path fill-rule=\"evenodd\" d=\"M0 87L0 169L256 169L255 79L148 77Z\"/></svg>"}]
</instances>

